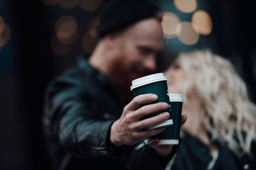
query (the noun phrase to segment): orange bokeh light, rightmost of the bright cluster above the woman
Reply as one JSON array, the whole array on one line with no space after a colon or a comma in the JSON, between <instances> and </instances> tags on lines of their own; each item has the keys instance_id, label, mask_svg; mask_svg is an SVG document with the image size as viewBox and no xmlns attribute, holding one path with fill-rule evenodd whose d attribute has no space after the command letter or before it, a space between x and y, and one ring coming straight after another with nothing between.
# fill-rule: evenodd
<instances>
[{"instance_id":1,"label":"orange bokeh light, rightmost of the bright cluster above the woman","mask_svg":"<svg viewBox=\"0 0 256 170\"><path fill-rule=\"evenodd\" d=\"M205 10L198 10L193 14L192 23L196 32L208 35L212 31L212 19Z\"/></svg>"}]
</instances>

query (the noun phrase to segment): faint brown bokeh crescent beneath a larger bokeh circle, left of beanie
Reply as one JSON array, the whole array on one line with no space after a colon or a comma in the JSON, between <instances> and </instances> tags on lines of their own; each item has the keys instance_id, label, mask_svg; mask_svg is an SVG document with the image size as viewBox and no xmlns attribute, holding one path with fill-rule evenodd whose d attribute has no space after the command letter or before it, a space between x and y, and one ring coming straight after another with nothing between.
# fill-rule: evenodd
<instances>
[{"instance_id":1,"label":"faint brown bokeh crescent beneath a larger bokeh circle, left of beanie","mask_svg":"<svg viewBox=\"0 0 256 170\"><path fill-rule=\"evenodd\" d=\"M55 55L66 55L70 51L71 46L68 44L60 43L59 39L54 36L51 41L51 48Z\"/></svg>"}]
</instances>

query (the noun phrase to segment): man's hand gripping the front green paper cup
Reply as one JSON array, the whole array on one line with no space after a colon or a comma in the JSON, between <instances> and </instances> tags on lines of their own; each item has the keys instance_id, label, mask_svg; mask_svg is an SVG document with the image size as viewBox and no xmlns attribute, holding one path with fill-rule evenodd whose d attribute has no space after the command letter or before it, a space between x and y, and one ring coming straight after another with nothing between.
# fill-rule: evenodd
<instances>
[{"instance_id":1,"label":"man's hand gripping the front green paper cup","mask_svg":"<svg viewBox=\"0 0 256 170\"><path fill-rule=\"evenodd\" d=\"M167 103L155 103L142 106L143 104L152 103L157 100L155 94L143 94L134 97L131 103L125 106L122 116L116 120L111 127L110 140L116 146L134 145L142 139L154 136L164 131L166 127L148 130L152 125L164 122L170 117L168 112L161 113L156 117L141 119L151 113L166 110Z\"/></svg>"}]
</instances>

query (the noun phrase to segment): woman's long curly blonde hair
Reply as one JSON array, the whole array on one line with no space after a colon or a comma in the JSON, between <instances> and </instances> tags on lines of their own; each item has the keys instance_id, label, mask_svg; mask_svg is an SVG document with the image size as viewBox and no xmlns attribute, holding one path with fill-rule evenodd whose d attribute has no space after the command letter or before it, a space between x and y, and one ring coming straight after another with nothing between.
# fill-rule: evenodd
<instances>
[{"instance_id":1,"label":"woman's long curly blonde hair","mask_svg":"<svg viewBox=\"0 0 256 170\"><path fill-rule=\"evenodd\" d=\"M232 64L209 50L180 53L177 58L188 81L183 96L191 87L202 103L202 122L212 140L227 143L237 156L250 154L256 138L256 106L248 98L244 81Z\"/></svg>"}]
</instances>

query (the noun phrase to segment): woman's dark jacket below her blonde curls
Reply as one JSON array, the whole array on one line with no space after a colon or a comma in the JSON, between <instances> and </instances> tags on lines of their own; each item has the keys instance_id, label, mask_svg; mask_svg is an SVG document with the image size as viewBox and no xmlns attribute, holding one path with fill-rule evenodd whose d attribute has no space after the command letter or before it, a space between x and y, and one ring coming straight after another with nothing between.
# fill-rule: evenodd
<instances>
[{"instance_id":1,"label":"woman's dark jacket below her blonde curls","mask_svg":"<svg viewBox=\"0 0 256 170\"><path fill-rule=\"evenodd\" d=\"M215 141L218 146L218 158L211 167L211 170L255 170L255 143L252 143L252 155L244 154L237 158L226 145ZM152 159L150 153L145 156L142 153L144 148L138 150L131 159L130 165L133 169L155 170L156 158ZM140 154L141 153L141 154ZM200 139L192 136L186 131L183 131L183 136L180 139L179 148L176 156L169 159L169 163L164 169L166 170L207 170L212 156L209 148L200 141Z\"/></svg>"}]
</instances>

